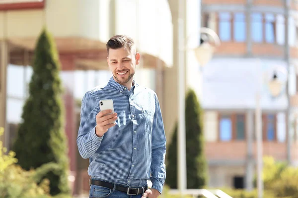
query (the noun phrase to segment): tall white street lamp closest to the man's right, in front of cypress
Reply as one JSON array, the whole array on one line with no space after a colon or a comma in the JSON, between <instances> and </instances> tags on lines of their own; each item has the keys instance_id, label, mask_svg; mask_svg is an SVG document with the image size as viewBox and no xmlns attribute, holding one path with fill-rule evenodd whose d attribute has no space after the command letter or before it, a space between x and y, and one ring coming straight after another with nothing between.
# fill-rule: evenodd
<instances>
[{"instance_id":1,"label":"tall white street lamp closest to the man's right, in front of cypress","mask_svg":"<svg viewBox=\"0 0 298 198\"><path fill-rule=\"evenodd\" d=\"M186 138L185 138L185 65L184 53L188 50L187 45L184 43L183 34L183 20L179 20L179 56L178 56L178 115L179 115L179 128L178 128L178 189L181 195L184 194L186 184ZM215 48L218 47L220 39L218 35L209 28L200 28L199 31L201 42L200 45L193 50L200 66L204 66L213 57ZM197 35L197 34L196 34ZM186 39L188 41L188 39ZM187 44L187 42L186 42ZM186 48L184 47L186 46Z\"/></svg>"}]
</instances>

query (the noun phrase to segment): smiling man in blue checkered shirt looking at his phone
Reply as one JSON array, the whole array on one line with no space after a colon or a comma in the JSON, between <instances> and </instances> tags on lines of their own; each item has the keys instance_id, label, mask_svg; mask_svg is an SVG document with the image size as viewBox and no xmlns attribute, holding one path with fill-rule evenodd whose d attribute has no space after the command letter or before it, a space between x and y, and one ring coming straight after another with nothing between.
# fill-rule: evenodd
<instances>
[{"instance_id":1,"label":"smiling man in blue checkered shirt looking at his phone","mask_svg":"<svg viewBox=\"0 0 298 198\"><path fill-rule=\"evenodd\" d=\"M106 47L113 77L84 95L77 136L78 151L90 162L90 197L157 198L166 177L157 96L133 80L140 54L131 38L116 35ZM101 111L100 99L113 99L115 113ZM147 189L147 180L152 188Z\"/></svg>"}]
</instances>

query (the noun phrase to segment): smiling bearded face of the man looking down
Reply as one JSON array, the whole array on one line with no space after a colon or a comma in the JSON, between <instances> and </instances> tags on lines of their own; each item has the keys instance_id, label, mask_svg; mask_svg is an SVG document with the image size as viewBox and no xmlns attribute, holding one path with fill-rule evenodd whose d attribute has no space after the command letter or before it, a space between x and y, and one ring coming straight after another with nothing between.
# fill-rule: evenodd
<instances>
[{"instance_id":1,"label":"smiling bearded face of the man looking down","mask_svg":"<svg viewBox=\"0 0 298 198\"><path fill-rule=\"evenodd\" d=\"M140 62L140 54L129 49L109 49L108 64L114 79L121 85L132 83L136 65Z\"/></svg>"}]
</instances>

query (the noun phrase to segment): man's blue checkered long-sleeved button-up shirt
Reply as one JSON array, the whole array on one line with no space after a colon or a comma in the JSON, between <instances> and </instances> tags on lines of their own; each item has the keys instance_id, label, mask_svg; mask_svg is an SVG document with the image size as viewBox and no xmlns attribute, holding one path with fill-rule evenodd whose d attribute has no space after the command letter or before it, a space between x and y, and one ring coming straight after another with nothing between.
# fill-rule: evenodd
<instances>
[{"instance_id":1,"label":"man's blue checkered long-sleeved button-up shirt","mask_svg":"<svg viewBox=\"0 0 298 198\"><path fill-rule=\"evenodd\" d=\"M113 99L118 119L102 137L95 134L100 99ZM104 87L88 91L83 99L77 147L89 158L92 178L130 187L151 180L160 193L166 177L166 138L156 94L138 84L130 91L113 77Z\"/></svg>"}]
</instances>

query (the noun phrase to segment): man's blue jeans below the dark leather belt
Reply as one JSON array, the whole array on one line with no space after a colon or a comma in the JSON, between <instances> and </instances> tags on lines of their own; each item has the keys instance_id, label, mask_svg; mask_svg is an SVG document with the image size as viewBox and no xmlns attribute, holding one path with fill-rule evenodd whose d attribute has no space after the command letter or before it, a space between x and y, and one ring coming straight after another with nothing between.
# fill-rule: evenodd
<instances>
[{"instance_id":1,"label":"man's blue jeans below the dark leather belt","mask_svg":"<svg viewBox=\"0 0 298 198\"><path fill-rule=\"evenodd\" d=\"M115 190L116 185L114 185L114 189L111 190L106 187L91 185L89 198L141 198L142 194L140 195L127 195L122 191Z\"/></svg>"}]
</instances>

